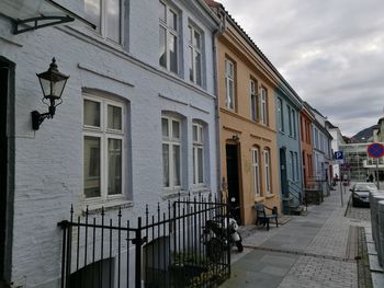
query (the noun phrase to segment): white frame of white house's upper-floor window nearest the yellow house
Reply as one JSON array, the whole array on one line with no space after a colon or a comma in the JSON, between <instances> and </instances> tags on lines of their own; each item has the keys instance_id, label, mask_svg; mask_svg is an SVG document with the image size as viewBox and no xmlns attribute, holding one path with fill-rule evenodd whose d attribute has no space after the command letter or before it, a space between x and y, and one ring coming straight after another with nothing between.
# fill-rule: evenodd
<instances>
[{"instance_id":1,"label":"white frame of white house's upper-floor window nearest the yellow house","mask_svg":"<svg viewBox=\"0 0 384 288\"><path fill-rule=\"evenodd\" d=\"M189 56L190 56L189 69L192 69L192 79L191 79L191 74L189 77L191 82L195 83L199 87L202 87L203 85L203 47L204 47L203 35L204 34L201 32L201 30L196 28L192 24L188 25L188 30L190 34L189 42L188 42L188 49L189 49ZM194 43L195 33L200 35L200 47ZM195 67L196 66L195 55L200 55L200 71ZM200 73L200 83L197 82L197 73Z\"/></svg>"}]
</instances>

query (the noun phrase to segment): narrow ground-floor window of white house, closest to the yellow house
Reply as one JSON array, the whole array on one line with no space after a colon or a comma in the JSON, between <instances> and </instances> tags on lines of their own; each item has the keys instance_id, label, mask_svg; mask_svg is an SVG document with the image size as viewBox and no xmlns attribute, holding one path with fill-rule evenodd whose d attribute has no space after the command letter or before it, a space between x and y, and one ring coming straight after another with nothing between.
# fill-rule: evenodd
<instances>
[{"instance_id":1,"label":"narrow ground-floor window of white house, closest to the yellow house","mask_svg":"<svg viewBox=\"0 0 384 288\"><path fill-rule=\"evenodd\" d=\"M192 124L193 139L193 184L204 183L204 137L203 125Z\"/></svg>"}]
</instances>

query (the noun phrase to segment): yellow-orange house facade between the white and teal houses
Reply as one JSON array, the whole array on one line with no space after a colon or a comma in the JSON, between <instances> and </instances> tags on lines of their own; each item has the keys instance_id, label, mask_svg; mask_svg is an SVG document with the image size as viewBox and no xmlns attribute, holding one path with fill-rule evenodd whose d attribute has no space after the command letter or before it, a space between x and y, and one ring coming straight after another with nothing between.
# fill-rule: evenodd
<instances>
[{"instance_id":1,"label":"yellow-orange house facade between the white and teal houses","mask_svg":"<svg viewBox=\"0 0 384 288\"><path fill-rule=\"evenodd\" d=\"M235 198L240 222L251 224L256 201L276 206L281 212L276 80L269 60L224 14L225 27L216 47L223 194Z\"/></svg>"}]
</instances>

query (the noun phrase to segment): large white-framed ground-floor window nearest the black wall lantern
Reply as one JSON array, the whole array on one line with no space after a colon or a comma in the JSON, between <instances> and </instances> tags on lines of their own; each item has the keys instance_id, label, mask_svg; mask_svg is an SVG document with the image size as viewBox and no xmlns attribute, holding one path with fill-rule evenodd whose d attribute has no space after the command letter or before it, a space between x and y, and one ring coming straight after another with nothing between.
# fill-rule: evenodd
<instances>
[{"instance_id":1,"label":"large white-framed ground-floor window nearest the black wall lantern","mask_svg":"<svg viewBox=\"0 0 384 288\"><path fill-rule=\"evenodd\" d=\"M83 99L83 193L86 198L123 194L124 105Z\"/></svg>"}]
</instances>

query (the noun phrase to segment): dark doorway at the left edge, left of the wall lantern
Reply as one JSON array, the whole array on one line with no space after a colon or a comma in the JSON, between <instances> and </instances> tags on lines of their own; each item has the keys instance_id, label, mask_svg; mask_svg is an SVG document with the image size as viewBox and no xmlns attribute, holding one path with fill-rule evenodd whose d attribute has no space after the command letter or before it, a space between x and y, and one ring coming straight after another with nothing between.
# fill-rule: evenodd
<instances>
[{"instance_id":1,"label":"dark doorway at the left edge, left of the wall lantern","mask_svg":"<svg viewBox=\"0 0 384 288\"><path fill-rule=\"evenodd\" d=\"M5 280L10 269L11 221L9 215L9 94L14 66L0 56L0 284Z\"/></svg>"}]
</instances>

